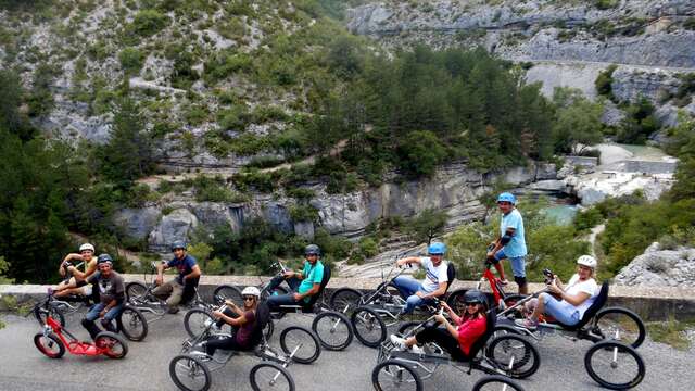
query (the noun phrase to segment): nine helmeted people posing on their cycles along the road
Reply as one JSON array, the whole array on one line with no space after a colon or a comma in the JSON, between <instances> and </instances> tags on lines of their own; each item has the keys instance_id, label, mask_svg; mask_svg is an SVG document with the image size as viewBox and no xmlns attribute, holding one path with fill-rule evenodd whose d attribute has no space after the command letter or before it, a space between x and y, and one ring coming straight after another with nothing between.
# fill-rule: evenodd
<instances>
[{"instance_id":1,"label":"nine helmeted people posing on their cycles along the road","mask_svg":"<svg viewBox=\"0 0 695 391\"><path fill-rule=\"evenodd\" d=\"M526 280L525 257L527 248L525 242L523 219L516 209L516 197L505 192L497 198L497 206L502 212L500 236L492 243L486 254L500 274L503 283L507 283L504 274L503 260L508 260L511 265L514 279L519 287L519 293L528 293ZM187 253L184 241L175 241L172 245L174 257L157 266L155 282L157 288L152 291L156 297L166 300L170 313L178 312L187 287L197 286L201 276L201 269L195 258ZM448 287L447 262L444 261L446 245L433 242L428 247L428 256L409 256L396 261L396 266L417 264L425 270L425 278L420 281L413 277L399 276L393 285L405 300L404 314L412 313L416 307L433 304L434 299L441 299ZM80 245L79 253L65 256L61 263L59 273L62 276L72 276L61 282L54 289L54 295L60 298L67 294L89 295L90 286L97 287L98 303L93 305L83 325L92 338L99 332L94 321L101 318L101 325L112 330L112 320L118 315L125 305L125 287L123 277L113 270L113 260L109 254L101 254L94 258L94 247L89 243ZM266 303L271 311L279 310L282 305L307 305L312 297L320 290L324 280L324 264L320 262L321 252L318 245L309 244L304 251L305 262L302 270L287 270L275 277L268 290L273 291L283 281L291 288L287 294L270 295ZM80 272L74 262L81 261L86 264L85 272ZM579 323L584 312L591 306L598 292L598 286L594 279L596 260L590 255L580 256L577 261L577 274L572 276L567 286L555 276L548 285L549 293L540 294L539 299L529 301L526 305L527 317L518 320L520 327L534 329L539 325L542 314L553 316L558 321L571 326ZM168 282L163 281L163 273L176 267L178 275ZM254 337L256 330L256 311L261 302L261 291L256 287L247 287L242 291L243 306L240 307L231 301L226 301L226 310L215 311L213 317L217 320L217 327L224 324L232 326L233 335L224 339L212 339L204 343L207 354L214 354L217 349L250 350L257 343ZM476 340L484 332L486 327L488 299L483 292L470 290L464 295L466 307L462 314L451 308L444 301L442 307L448 318L435 315L439 326L425 328L417 335L403 339L391 336L391 341L400 349L420 352L419 344L437 342L446 349L452 357L467 360L470 349ZM451 320L450 320L451 319Z\"/></svg>"}]
</instances>

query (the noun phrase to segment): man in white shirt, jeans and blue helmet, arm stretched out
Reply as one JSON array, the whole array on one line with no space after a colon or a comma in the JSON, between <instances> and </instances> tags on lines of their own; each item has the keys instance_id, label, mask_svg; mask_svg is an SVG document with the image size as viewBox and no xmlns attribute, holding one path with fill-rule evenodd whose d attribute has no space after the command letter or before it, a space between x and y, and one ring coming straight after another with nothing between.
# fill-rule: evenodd
<instances>
[{"instance_id":1,"label":"man in white shirt, jeans and blue helmet, arm stretched out","mask_svg":"<svg viewBox=\"0 0 695 391\"><path fill-rule=\"evenodd\" d=\"M395 265L417 264L425 269L425 279L418 281L409 276L399 276L393 279L393 286L399 293L405 299L405 307L402 314L409 314L415 307L432 303L432 299L440 298L446 293L446 282L448 275L446 274L447 264L444 262L444 253L446 244L442 242L432 242L427 251L429 256L408 256L397 260Z\"/></svg>"}]
</instances>

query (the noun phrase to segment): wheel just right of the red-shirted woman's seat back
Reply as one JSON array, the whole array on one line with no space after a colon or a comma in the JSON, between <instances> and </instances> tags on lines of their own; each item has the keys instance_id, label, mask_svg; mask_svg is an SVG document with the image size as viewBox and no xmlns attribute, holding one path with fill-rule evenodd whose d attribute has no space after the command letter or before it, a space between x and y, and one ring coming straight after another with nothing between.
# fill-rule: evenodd
<instances>
[{"instance_id":1,"label":"wheel just right of the red-shirted woman's seat back","mask_svg":"<svg viewBox=\"0 0 695 391\"><path fill-rule=\"evenodd\" d=\"M515 379L525 379L541 366L538 349L526 338L513 333L490 341L485 346L485 355Z\"/></svg>"}]
</instances>

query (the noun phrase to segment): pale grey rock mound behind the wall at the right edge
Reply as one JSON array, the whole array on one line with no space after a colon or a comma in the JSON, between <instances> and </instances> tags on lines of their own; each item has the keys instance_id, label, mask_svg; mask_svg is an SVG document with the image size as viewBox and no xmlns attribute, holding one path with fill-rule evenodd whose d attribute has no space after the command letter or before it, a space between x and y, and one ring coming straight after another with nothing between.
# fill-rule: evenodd
<instances>
[{"instance_id":1,"label":"pale grey rock mound behind the wall at the right edge","mask_svg":"<svg viewBox=\"0 0 695 391\"><path fill-rule=\"evenodd\" d=\"M695 249L660 250L652 243L615 277L615 283L643 287L695 287Z\"/></svg>"}]
</instances>

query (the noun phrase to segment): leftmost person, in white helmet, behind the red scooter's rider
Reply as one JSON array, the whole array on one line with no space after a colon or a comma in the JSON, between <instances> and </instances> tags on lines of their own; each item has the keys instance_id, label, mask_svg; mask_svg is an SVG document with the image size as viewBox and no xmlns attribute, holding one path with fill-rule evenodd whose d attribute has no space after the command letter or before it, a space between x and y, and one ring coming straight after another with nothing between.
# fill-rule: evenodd
<instances>
[{"instance_id":1,"label":"leftmost person, in white helmet, behind the red scooter's rider","mask_svg":"<svg viewBox=\"0 0 695 391\"><path fill-rule=\"evenodd\" d=\"M58 273L67 278L53 288L55 298L63 298L68 294L91 294L91 286L87 283L87 279L97 272L97 258L93 255L94 247L90 243L80 245L79 253L65 255L58 267ZM84 273L75 266L79 262L86 265Z\"/></svg>"}]
</instances>

